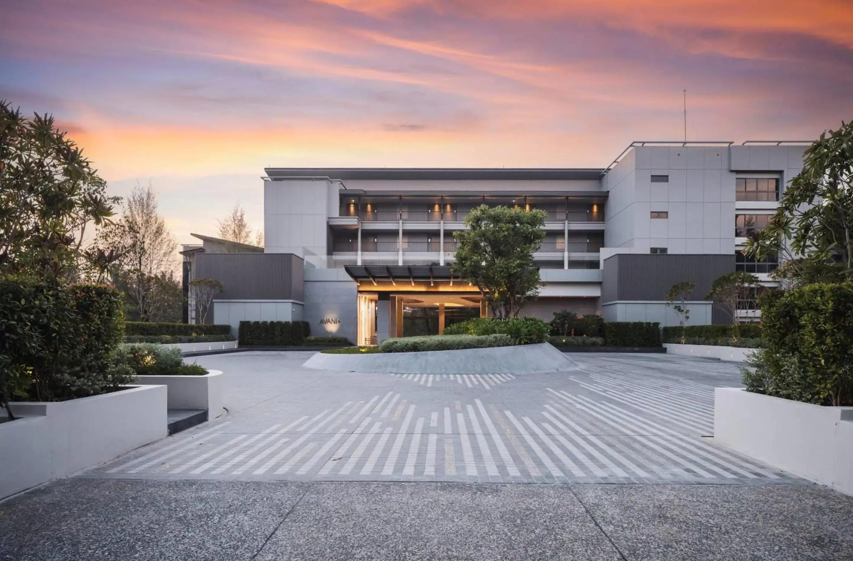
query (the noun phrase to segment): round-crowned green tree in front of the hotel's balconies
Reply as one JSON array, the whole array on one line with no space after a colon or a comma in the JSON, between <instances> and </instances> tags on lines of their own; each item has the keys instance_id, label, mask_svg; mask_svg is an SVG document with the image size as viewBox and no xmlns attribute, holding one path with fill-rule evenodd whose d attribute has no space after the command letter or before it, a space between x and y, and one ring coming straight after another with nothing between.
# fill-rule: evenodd
<instances>
[{"instance_id":1,"label":"round-crowned green tree in front of the hotel's balconies","mask_svg":"<svg viewBox=\"0 0 853 561\"><path fill-rule=\"evenodd\" d=\"M477 286L499 318L515 317L528 298L539 293L533 252L545 239L544 211L480 205L465 217L451 272Z\"/></svg>"}]
</instances>

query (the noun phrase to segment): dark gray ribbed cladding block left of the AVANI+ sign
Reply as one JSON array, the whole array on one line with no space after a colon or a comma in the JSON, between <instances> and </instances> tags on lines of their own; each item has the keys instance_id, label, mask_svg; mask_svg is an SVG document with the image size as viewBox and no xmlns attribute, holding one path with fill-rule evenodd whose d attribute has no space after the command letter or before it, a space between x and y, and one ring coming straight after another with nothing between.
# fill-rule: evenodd
<instances>
[{"instance_id":1,"label":"dark gray ribbed cladding block left of the AVANI+ sign","mask_svg":"<svg viewBox=\"0 0 853 561\"><path fill-rule=\"evenodd\" d=\"M305 298L303 263L293 253L199 253L195 279L216 279L217 300L299 300Z\"/></svg>"}]
</instances>

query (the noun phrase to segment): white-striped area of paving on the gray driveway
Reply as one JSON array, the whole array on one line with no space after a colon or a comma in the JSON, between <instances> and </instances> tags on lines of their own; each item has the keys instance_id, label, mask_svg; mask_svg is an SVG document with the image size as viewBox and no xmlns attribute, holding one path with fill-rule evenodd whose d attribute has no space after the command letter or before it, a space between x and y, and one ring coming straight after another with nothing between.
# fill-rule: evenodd
<instances>
[{"instance_id":1,"label":"white-striped area of paving on the gray driveway","mask_svg":"<svg viewBox=\"0 0 853 561\"><path fill-rule=\"evenodd\" d=\"M791 483L713 445L709 386L592 372L519 408L483 398L429 405L397 391L252 433L229 420L140 452L96 477L518 483ZM409 379L409 378L406 378ZM415 395L436 379L418 384ZM442 383L456 379L441 378ZM481 390L486 390L481 382ZM467 386L464 386L467 388ZM472 389L474 389L472 382ZM435 390L431 390L435 391ZM529 390L528 390L529 391Z\"/></svg>"}]
</instances>

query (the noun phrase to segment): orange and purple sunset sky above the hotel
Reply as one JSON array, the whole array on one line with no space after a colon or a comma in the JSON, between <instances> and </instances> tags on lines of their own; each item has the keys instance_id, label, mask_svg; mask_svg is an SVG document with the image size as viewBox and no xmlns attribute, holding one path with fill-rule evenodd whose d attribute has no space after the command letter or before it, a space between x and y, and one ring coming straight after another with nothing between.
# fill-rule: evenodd
<instances>
[{"instance_id":1,"label":"orange and purple sunset sky above the hotel","mask_svg":"<svg viewBox=\"0 0 853 561\"><path fill-rule=\"evenodd\" d=\"M53 113L178 241L279 166L607 165L634 140L853 119L850 0L3 2L0 97Z\"/></svg>"}]
</instances>

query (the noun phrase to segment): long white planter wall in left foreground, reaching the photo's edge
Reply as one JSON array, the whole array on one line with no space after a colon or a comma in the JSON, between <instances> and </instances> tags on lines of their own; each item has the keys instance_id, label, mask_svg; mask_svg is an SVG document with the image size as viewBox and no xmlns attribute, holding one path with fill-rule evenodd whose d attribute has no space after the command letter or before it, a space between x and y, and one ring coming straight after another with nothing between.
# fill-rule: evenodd
<instances>
[{"instance_id":1,"label":"long white planter wall in left foreground, reaching the photo's edge","mask_svg":"<svg viewBox=\"0 0 853 561\"><path fill-rule=\"evenodd\" d=\"M166 436L166 388L135 385L67 402L12 402L0 423L0 498Z\"/></svg>"}]
</instances>

